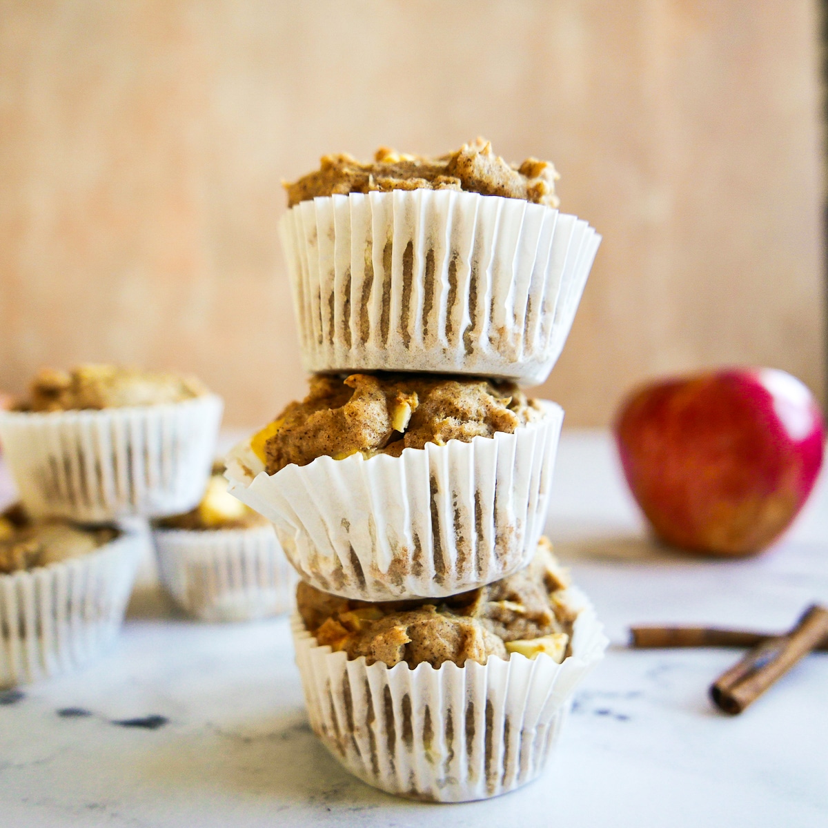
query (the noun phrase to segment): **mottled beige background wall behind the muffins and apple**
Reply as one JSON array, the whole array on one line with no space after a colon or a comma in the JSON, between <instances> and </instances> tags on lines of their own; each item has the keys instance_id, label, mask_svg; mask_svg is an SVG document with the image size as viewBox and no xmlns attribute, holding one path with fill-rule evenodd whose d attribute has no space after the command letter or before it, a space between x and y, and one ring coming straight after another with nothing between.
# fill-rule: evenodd
<instances>
[{"instance_id":1,"label":"mottled beige background wall behind the muffins and apple","mask_svg":"<svg viewBox=\"0 0 828 828\"><path fill-rule=\"evenodd\" d=\"M604 244L543 392L765 363L824 391L805 0L0 0L0 388L200 374L235 425L305 386L279 185L330 151L550 158Z\"/></svg>"}]
</instances>

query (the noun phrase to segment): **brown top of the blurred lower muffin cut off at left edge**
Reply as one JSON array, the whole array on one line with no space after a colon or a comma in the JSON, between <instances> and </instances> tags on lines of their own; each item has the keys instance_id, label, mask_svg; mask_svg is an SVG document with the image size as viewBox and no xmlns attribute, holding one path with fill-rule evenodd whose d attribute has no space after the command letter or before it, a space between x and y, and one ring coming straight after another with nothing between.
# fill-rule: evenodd
<instances>
[{"instance_id":1,"label":"brown top of the blurred lower muffin cut off at left edge","mask_svg":"<svg viewBox=\"0 0 828 828\"><path fill-rule=\"evenodd\" d=\"M89 555L118 536L112 528L82 528L49 520L32 522L19 506L0 515L0 573L47 566Z\"/></svg>"}]
</instances>

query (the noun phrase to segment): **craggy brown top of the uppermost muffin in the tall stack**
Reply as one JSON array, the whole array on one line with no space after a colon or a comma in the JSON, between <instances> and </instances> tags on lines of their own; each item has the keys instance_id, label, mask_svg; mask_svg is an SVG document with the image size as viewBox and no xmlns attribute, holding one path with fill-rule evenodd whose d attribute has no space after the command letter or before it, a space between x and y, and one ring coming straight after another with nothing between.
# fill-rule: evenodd
<instances>
[{"instance_id":1,"label":"craggy brown top of the uppermost muffin in the tall stack","mask_svg":"<svg viewBox=\"0 0 828 828\"><path fill-rule=\"evenodd\" d=\"M519 166L508 164L492 152L488 141L478 138L439 158L407 155L388 147L380 147L368 164L346 152L324 156L319 170L284 186L288 207L320 195L388 190L464 190L557 207L558 178L549 161L527 158Z\"/></svg>"}]
</instances>

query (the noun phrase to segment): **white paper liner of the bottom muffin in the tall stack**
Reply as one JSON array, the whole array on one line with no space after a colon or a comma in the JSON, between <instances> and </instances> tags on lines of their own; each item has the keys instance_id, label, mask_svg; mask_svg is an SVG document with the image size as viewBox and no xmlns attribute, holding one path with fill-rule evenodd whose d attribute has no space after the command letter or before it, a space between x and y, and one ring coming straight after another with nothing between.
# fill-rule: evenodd
<instances>
[{"instance_id":1,"label":"white paper liner of the bottom muffin in the tall stack","mask_svg":"<svg viewBox=\"0 0 828 828\"><path fill-rule=\"evenodd\" d=\"M575 687L604 655L607 638L583 604L571 655L545 653L485 665L405 662L368 666L320 647L292 619L310 726L351 773L403 797L466 802L537 777L561 734Z\"/></svg>"}]
</instances>

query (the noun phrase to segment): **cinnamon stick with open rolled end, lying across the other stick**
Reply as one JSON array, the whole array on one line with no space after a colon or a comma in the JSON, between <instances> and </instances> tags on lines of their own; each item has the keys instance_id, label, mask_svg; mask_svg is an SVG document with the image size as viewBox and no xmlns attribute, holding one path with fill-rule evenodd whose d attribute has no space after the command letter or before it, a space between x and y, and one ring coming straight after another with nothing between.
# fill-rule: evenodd
<instances>
[{"instance_id":1,"label":"cinnamon stick with open rolled end, lying across the other stick","mask_svg":"<svg viewBox=\"0 0 828 828\"><path fill-rule=\"evenodd\" d=\"M814 604L790 633L766 638L719 676L710 687L711 698L725 713L741 713L826 635L828 609Z\"/></svg>"}]
</instances>

